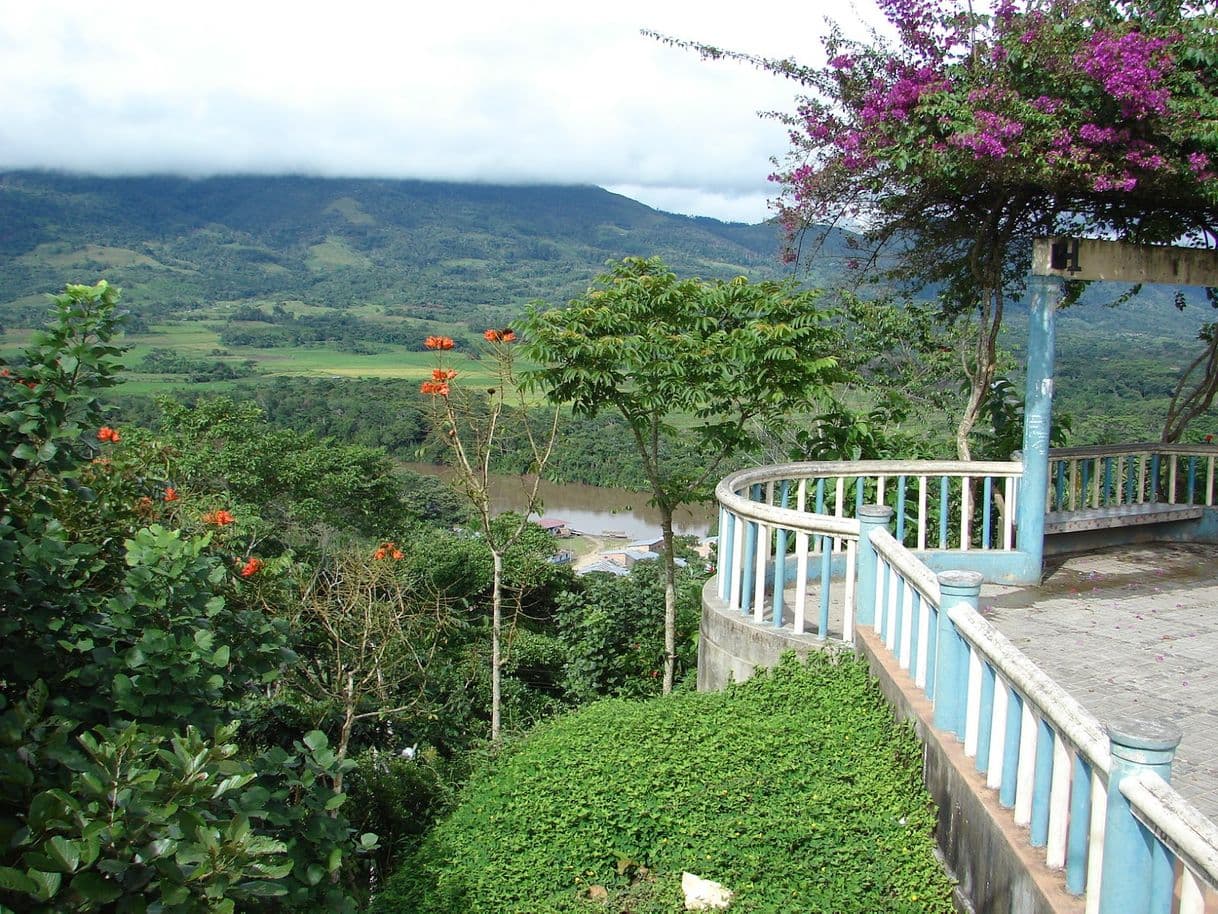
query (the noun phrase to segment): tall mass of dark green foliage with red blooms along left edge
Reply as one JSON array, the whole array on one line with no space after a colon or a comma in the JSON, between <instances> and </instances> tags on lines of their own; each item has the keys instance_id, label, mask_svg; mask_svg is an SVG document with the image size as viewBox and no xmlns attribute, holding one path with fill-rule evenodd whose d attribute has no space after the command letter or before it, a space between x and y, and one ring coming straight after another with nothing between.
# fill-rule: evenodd
<instances>
[{"instance_id":1,"label":"tall mass of dark green foliage with red blooms along left edge","mask_svg":"<svg viewBox=\"0 0 1218 914\"><path fill-rule=\"evenodd\" d=\"M352 910L350 763L320 732L242 757L228 724L291 661L285 625L227 533L174 523L164 451L97 428L116 301L68 286L0 372L0 907Z\"/></svg>"}]
</instances>

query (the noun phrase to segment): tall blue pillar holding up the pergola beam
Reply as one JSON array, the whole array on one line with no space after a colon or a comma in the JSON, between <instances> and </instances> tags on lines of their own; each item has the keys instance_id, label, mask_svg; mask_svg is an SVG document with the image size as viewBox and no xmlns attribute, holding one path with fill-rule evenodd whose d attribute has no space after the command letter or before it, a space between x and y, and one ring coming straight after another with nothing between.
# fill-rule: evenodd
<instances>
[{"instance_id":1,"label":"tall blue pillar holding up the pergola beam","mask_svg":"<svg viewBox=\"0 0 1218 914\"><path fill-rule=\"evenodd\" d=\"M1019 483L1018 548L1027 557L1027 583L1039 583L1045 554L1049 492L1049 427L1054 403L1055 312L1061 280L1029 277L1028 385L1023 401L1023 479Z\"/></svg>"}]
</instances>

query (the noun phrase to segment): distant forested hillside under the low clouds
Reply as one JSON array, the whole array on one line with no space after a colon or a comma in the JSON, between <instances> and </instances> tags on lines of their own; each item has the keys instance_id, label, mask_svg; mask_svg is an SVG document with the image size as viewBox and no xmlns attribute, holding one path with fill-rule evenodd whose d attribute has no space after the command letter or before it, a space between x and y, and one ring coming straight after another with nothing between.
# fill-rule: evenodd
<instances>
[{"instance_id":1,"label":"distant forested hillside under the low clouds","mask_svg":"<svg viewBox=\"0 0 1218 914\"><path fill-rule=\"evenodd\" d=\"M300 300L491 323L579 295L630 255L704 277L782 272L773 225L674 216L593 186L22 172L0 175L0 303L41 310L45 290L105 273L149 318Z\"/></svg>"}]
</instances>

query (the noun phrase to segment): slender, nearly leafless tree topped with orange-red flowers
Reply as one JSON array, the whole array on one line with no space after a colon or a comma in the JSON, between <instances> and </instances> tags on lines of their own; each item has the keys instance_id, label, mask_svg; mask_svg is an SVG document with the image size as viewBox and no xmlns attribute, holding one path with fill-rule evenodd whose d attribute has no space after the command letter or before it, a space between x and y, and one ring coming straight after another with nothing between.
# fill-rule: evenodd
<instances>
[{"instance_id":1,"label":"slender, nearly leafless tree topped with orange-red flowers","mask_svg":"<svg viewBox=\"0 0 1218 914\"><path fill-rule=\"evenodd\" d=\"M502 634L504 556L520 540L529 525L529 514L540 507L537 490L549 461L558 433L558 409L554 411L548 429L537 434L524 420L524 433L532 455L529 475L523 485L524 511L507 523L497 523L491 505L491 463L505 434L505 411L509 406L526 416L526 403L516 381L514 344L515 331L490 329L482 334L490 356L495 361L497 383L475 395L457 383L459 372L452 368L445 356L454 346L449 336L428 336L425 346L436 352L436 368L430 380L423 381L420 392L431 397L429 420L443 440L449 464L457 472L457 487L474 508L482 541L491 551L491 740L499 739L502 709ZM513 429L515 431L515 429Z\"/></svg>"}]
</instances>

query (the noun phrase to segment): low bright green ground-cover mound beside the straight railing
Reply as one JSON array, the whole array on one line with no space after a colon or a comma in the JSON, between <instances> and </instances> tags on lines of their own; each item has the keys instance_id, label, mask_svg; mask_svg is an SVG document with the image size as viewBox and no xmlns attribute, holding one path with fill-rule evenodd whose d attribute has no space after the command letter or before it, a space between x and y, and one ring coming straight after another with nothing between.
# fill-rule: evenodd
<instances>
[{"instance_id":1,"label":"low bright green ground-cover mound beside the straight railing","mask_svg":"<svg viewBox=\"0 0 1218 914\"><path fill-rule=\"evenodd\" d=\"M948 914L920 758L848 656L600 702L475 778L373 912L672 912L689 870L734 912Z\"/></svg>"}]
</instances>

